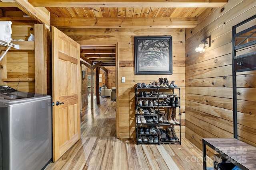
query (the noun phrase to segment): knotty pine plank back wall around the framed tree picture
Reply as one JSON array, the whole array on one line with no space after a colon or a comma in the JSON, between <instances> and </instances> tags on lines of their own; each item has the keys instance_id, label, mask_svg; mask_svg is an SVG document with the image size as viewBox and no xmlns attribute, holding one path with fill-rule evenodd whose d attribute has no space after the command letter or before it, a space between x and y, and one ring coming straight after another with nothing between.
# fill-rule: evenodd
<instances>
[{"instance_id":1,"label":"knotty pine plank back wall around the framed tree picture","mask_svg":"<svg viewBox=\"0 0 256 170\"><path fill-rule=\"evenodd\" d=\"M182 112L185 110L185 29L61 29L75 41L82 42L118 42L118 87L116 100L117 137L134 138L135 135L135 99L134 86L140 82L146 84L158 81L160 77L175 80L181 87ZM172 35L173 74L172 75L134 75L134 36ZM121 83L125 77L125 83ZM184 113L182 113L184 119ZM184 124L182 125L184 126Z\"/></svg>"}]
</instances>

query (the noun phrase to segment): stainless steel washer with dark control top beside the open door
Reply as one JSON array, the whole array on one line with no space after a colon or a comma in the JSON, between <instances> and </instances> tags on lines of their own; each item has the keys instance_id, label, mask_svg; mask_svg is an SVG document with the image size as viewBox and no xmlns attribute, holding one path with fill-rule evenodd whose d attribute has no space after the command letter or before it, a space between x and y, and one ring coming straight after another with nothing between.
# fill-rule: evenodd
<instances>
[{"instance_id":1,"label":"stainless steel washer with dark control top beside the open door","mask_svg":"<svg viewBox=\"0 0 256 170\"><path fill-rule=\"evenodd\" d=\"M52 160L52 98L0 86L1 170L41 170Z\"/></svg>"}]
</instances>

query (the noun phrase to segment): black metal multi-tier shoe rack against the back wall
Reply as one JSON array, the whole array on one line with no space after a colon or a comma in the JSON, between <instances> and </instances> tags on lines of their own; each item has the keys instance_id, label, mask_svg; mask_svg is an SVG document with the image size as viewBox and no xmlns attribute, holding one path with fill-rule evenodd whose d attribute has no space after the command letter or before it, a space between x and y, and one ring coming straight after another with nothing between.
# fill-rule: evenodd
<instances>
[{"instance_id":1,"label":"black metal multi-tier shoe rack against the back wall","mask_svg":"<svg viewBox=\"0 0 256 170\"><path fill-rule=\"evenodd\" d=\"M164 102L164 101L166 101L166 99L167 98L171 98L170 96L167 96L167 97L159 97L159 94L160 93L162 93L162 92L165 92L166 94L171 94L171 95L173 95L173 94L175 94L174 92L175 92L175 90L178 90L178 96L176 96L177 98L178 98L178 107L176 107L176 112L178 111L178 114L177 114L177 119L178 119L178 121L180 122L180 115L181 115L181 113L180 113L180 88L138 88L138 87L136 87L135 88L135 100L136 100L136 109L135 109L135 118L136 118L136 139L137 139L137 145L139 145L139 144L158 144L158 145L160 145L160 144L180 144L181 145L181 125L180 125L180 123L179 124L176 124L176 125L171 125L170 123L159 123L159 118L160 118L160 114L159 114L159 112L161 112L161 113L165 113L165 108L167 107L167 109L168 109L168 107L172 107L172 106L162 106L162 105L159 105L160 103L162 103L162 102ZM144 96L138 96L138 94L140 93L140 92L143 92L143 91L145 91L145 92L147 92L148 94L150 94L152 91L155 91L156 93L157 93L157 97L144 97ZM144 106L144 105L142 105L142 106L138 106L138 103L137 103L137 101L138 100L141 100L142 101L142 103L143 103L143 101L144 100L148 100L148 101L150 101L150 100L156 100L157 101L157 103L158 103L158 105L157 106ZM156 113L154 113L154 114L149 114L149 115L145 115L145 114L139 114L139 109L140 109L140 107L142 107L143 109L147 109L147 108L150 108L150 107L152 107L152 108L154 108L154 110L156 111ZM147 117L156 117L157 119L158 119L158 122L156 123L149 123L149 122L147 122L147 123L138 123L138 117L144 117L144 118L147 118ZM149 134L140 134L140 132L139 132L139 129L142 127L142 128L150 128L151 126L154 126L154 127L156 127L156 130L157 130L157 132L156 133L149 133ZM179 131L180 131L180 133L179 133L179 135L178 135L178 133L176 133L177 134L177 137L179 137L179 141L175 141L175 142L170 142L170 141L164 141L164 139L161 139L161 135L160 135L160 133L159 133L159 130L160 129L166 129L167 127L177 127L177 126L179 126ZM177 128L176 128L177 129ZM144 136L144 137L150 137L150 136L152 136L152 137L154 137L154 136L157 136L157 139L158 139L158 142L153 142L153 143L150 143L150 142L143 142L143 140L142 140L142 142L139 142L138 141L138 138L139 137L142 137L142 136ZM167 133L166 133L166 137L167 137L168 135L167 135Z\"/></svg>"}]
</instances>

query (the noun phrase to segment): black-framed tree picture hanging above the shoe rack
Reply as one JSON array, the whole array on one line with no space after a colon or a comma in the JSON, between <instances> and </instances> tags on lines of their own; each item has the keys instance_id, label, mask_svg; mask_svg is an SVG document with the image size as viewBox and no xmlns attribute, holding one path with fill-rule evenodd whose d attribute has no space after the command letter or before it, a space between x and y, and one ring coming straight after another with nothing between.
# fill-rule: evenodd
<instances>
[{"instance_id":1,"label":"black-framed tree picture hanging above the shoe rack","mask_svg":"<svg viewBox=\"0 0 256 170\"><path fill-rule=\"evenodd\" d=\"M172 36L134 37L135 75L172 74Z\"/></svg>"}]
</instances>

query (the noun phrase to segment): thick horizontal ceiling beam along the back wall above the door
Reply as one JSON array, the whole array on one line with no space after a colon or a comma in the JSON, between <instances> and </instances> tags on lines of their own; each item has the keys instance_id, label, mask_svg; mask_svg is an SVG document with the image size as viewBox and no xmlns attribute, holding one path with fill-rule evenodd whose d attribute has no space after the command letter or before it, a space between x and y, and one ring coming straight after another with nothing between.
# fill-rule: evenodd
<instances>
[{"instance_id":1,"label":"thick horizontal ceiling beam along the back wall above the door","mask_svg":"<svg viewBox=\"0 0 256 170\"><path fill-rule=\"evenodd\" d=\"M194 28L198 21L192 18L51 18L58 28Z\"/></svg>"}]
</instances>

